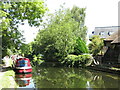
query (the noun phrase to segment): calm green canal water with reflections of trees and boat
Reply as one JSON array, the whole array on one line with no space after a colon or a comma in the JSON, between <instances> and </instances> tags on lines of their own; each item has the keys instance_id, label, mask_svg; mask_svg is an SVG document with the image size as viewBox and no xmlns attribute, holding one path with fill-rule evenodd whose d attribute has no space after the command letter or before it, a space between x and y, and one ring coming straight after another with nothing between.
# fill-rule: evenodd
<instances>
[{"instance_id":1,"label":"calm green canal water with reflections of trees and boat","mask_svg":"<svg viewBox=\"0 0 120 90\"><path fill-rule=\"evenodd\" d=\"M66 67L37 67L32 74L16 76L20 88L119 88L119 80L105 72Z\"/></svg>"}]
</instances>

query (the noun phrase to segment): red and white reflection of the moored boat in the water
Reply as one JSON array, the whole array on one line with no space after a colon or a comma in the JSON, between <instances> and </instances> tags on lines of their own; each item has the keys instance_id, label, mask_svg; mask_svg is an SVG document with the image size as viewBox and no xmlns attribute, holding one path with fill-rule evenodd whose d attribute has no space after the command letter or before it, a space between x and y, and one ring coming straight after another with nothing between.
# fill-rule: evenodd
<instances>
[{"instance_id":1,"label":"red and white reflection of the moored boat in the water","mask_svg":"<svg viewBox=\"0 0 120 90\"><path fill-rule=\"evenodd\" d=\"M15 81L19 88L35 88L32 73L28 74L15 74Z\"/></svg>"}]
</instances>

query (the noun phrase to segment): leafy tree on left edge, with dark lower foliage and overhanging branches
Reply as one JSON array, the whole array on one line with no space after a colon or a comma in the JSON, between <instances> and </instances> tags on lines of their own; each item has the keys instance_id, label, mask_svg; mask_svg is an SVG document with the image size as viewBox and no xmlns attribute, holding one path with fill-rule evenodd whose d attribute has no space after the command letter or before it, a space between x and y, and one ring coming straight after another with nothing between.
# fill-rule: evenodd
<instances>
[{"instance_id":1,"label":"leafy tree on left edge, with dark lower foliage and overhanging branches","mask_svg":"<svg viewBox=\"0 0 120 90\"><path fill-rule=\"evenodd\" d=\"M21 42L24 41L22 32L18 30L19 24L24 24L27 20L30 26L39 26L42 17L47 10L44 2L36 0L36 2L0 2L1 22L0 28L2 32L2 50L3 56L7 53L7 48L15 52L19 49Z\"/></svg>"}]
</instances>

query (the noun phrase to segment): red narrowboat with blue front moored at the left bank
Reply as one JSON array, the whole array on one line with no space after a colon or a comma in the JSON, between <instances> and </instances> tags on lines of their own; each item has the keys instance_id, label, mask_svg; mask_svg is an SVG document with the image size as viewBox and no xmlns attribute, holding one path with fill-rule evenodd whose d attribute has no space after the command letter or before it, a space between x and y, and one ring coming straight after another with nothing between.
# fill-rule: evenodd
<instances>
[{"instance_id":1,"label":"red narrowboat with blue front moored at the left bank","mask_svg":"<svg viewBox=\"0 0 120 90\"><path fill-rule=\"evenodd\" d=\"M15 72L16 73L31 73L32 66L30 64L30 60L28 58L17 59L16 64L15 64Z\"/></svg>"}]
</instances>

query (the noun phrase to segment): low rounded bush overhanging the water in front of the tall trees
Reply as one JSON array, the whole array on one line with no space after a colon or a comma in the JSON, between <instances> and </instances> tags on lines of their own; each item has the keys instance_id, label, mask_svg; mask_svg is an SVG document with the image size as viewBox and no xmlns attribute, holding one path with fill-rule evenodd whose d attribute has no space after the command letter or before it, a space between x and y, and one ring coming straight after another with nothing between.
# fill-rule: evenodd
<instances>
[{"instance_id":1,"label":"low rounded bush overhanging the water in front of the tall trees","mask_svg":"<svg viewBox=\"0 0 120 90\"><path fill-rule=\"evenodd\" d=\"M68 55L62 62L68 67L84 67L91 65L93 57L89 54L83 55Z\"/></svg>"}]
</instances>

